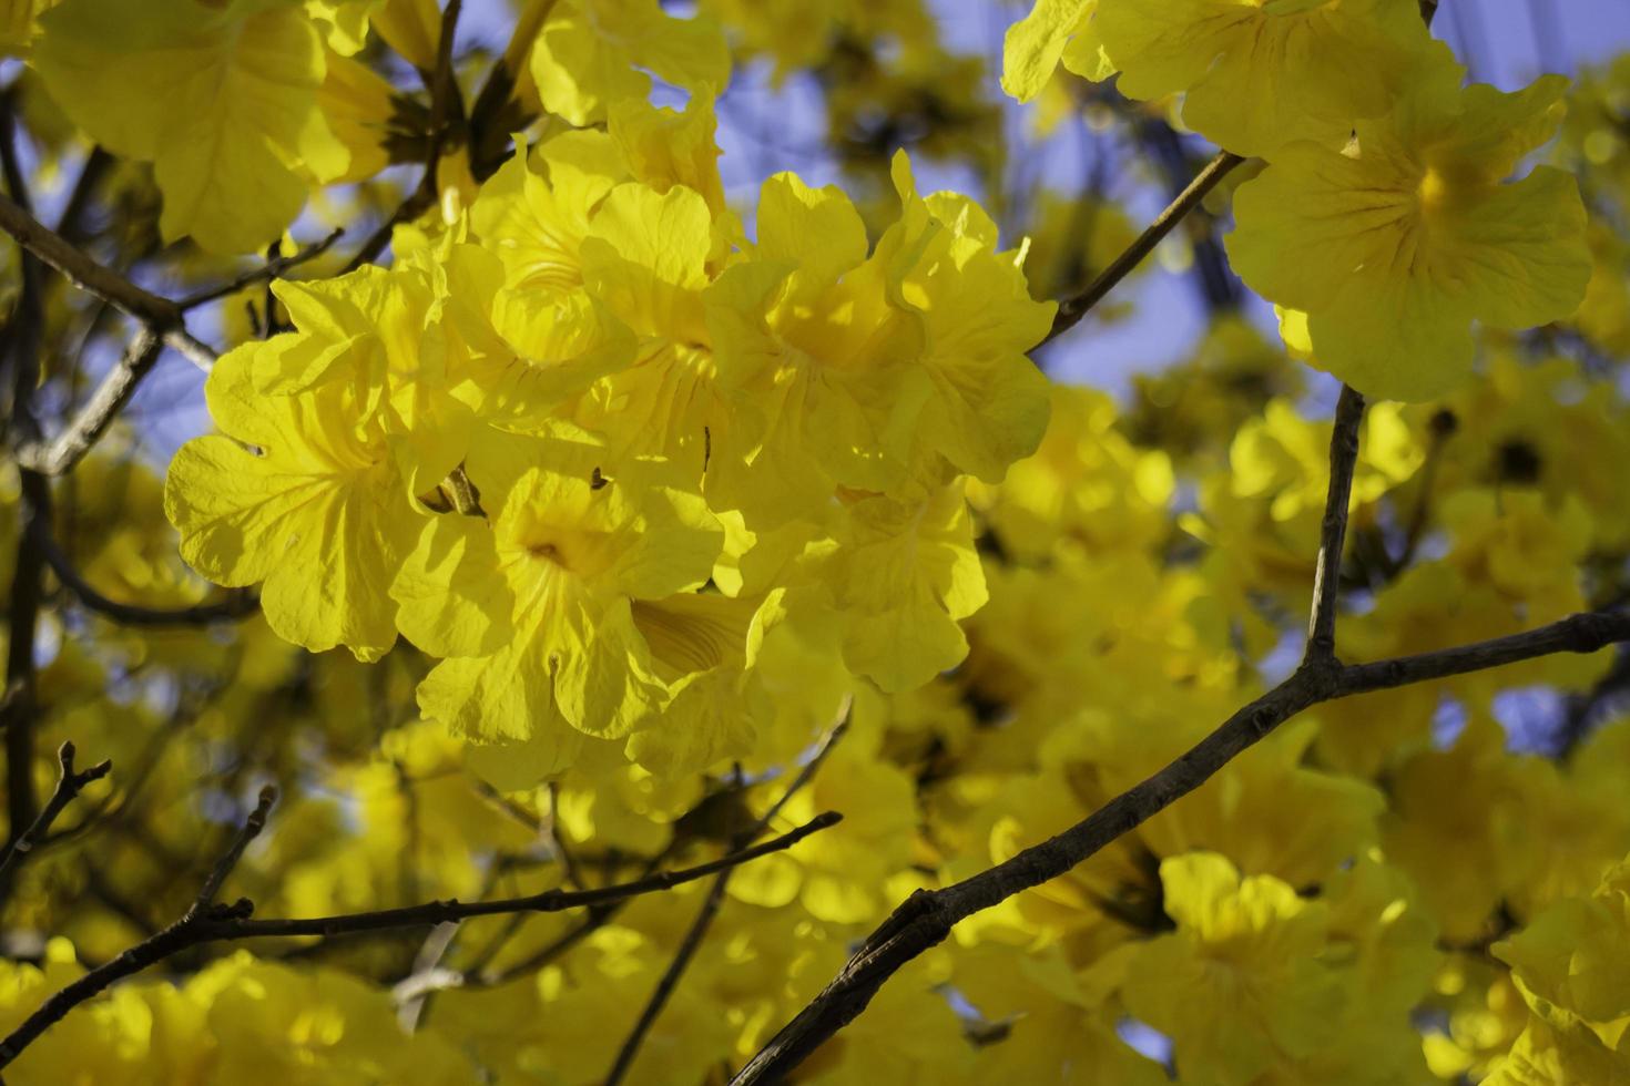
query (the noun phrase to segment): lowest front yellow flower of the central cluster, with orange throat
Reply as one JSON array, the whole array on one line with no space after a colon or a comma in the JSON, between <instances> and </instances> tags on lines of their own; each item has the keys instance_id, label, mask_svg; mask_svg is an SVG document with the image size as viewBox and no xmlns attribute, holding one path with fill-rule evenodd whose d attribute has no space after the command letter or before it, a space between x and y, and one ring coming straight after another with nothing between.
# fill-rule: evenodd
<instances>
[{"instance_id":1,"label":"lowest front yellow flower of the central cluster, with orange throat","mask_svg":"<svg viewBox=\"0 0 1630 1086\"><path fill-rule=\"evenodd\" d=\"M632 606L707 580L722 542L712 515L632 466L615 482L535 467L509 488L491 539L468 531L468 585L455 581L448 607L482 601L496 633L440 622L429 598L421 622L445 632L448 659L419 687L424 715L478 739L536 738L556 769L579 734L628 736L663 698Z\"/></svg>"}]
</instances>

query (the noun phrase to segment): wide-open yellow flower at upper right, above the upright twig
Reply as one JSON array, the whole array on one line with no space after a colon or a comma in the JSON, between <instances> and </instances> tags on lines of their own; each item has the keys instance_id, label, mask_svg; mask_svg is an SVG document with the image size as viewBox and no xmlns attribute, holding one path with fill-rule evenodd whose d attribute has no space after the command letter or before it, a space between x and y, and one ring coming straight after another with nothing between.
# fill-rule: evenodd
<instances>
[{"instance_id":1,"label":"wide-open yellow flower at upper right, above the upright twig","mask_svg":"<svg viewBox=\"0 0 1630 1086\"><path fill-rule=\"evenodd\" d=\"M1239 187L1227 251L1307 314L1314 363L1361 392L1428 399L1472 365L1472 321L1521 329L1579 304L1584 207L1548 166L1504 184L1560 120L1562 77L1524 91L1433 78L1346 150L1302 142Z\"/></svg>"}]
</instances>

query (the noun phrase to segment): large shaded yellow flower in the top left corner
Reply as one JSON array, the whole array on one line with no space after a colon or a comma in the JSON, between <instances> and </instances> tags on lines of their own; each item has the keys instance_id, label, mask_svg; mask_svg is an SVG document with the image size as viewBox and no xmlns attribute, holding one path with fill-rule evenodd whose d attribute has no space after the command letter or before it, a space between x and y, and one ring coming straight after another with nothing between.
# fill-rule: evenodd
<instances>
[{"instance_id":1,"label":"large shaded yellow flower in the top left corner","mask_svg":"<svg viewBox=\"0 0 1630 1086\"><path fill-rule=\"evenodd\" d=\"M67 0L41 28L33 63L51 96L114 153L153 163L166 239L261 249L306 177L349 164L318 111L323 42L293 0Z\"/></svg>"}]
</instances>

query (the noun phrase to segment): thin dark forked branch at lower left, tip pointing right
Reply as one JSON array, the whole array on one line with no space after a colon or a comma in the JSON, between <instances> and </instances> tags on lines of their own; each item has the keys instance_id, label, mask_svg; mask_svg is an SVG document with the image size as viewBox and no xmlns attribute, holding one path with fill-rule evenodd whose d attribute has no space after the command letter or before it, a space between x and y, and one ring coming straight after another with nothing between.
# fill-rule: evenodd
<instances>
[{"instance_id":1,"label":"thin dark forked branch at lower left, tip pointing right","mask_svg":"<svg viewBox=\"0 0 1630 1086\"><path fill-rule=\"evenodd\" d=\"M637 894L665 891L683 882L717 874L719 871L756 860L758 856L791 848L810 834L820 832L843 821L843 816L828 811L815 816L804 825L782 834L781 837L766 840L761 845L753 845L751 848L734 852L727 856L720 856L719 860L678 871L660 871L632 882L623 882L621 886L601 886L592 891L544 891L543 894L533 894L530 897L510 897L468 904L456 900L437 900L404 909L383 909L378 912L344 913L337 917L313 917L310 920L251 920L249 917L254 912L254 905L248 899L238 899L230 905L207 904L207 899L220 889L220 884L231 871L238 856L243 855L243 848L259 832L256 819L259 819L259 824L264 824L264 811L269 806L271 799L267 798L267 793L262 791L261 806L258 806L256 812L249 816L243 830L240 830L240 834L233 839L231 848L212 869L204 887L205 892L199 894L197 902L194 902L192 909L189 909L181 920L150 939L132 946L112 961L90 970L73 983L47 998L37 1011L29 1014L21 1026L11 1031L11 1034L0 1042L0 1068L11 1063L18 1053L21 1053L51 1026L62 1021L68 1011L104 992L111 983L139 974L148 966L165 961L166 957L173 957L174 954L194 946L271 936L334 936L354 931L380 931L385 928L419 928L468 920L469 917L491 917L513 912L562 912L584 905L603 905L606 902L634 897Z\"/></svg>"}]
</instances>

